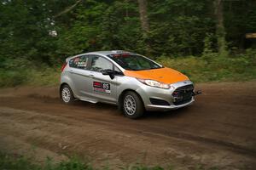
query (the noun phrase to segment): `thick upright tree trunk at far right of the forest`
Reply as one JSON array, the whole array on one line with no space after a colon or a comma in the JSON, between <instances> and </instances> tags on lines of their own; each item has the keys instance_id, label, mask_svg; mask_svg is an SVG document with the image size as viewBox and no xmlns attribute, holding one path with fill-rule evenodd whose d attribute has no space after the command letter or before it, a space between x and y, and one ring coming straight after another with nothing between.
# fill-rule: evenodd
<instances>
[{"instance_id":1,"label":"thick upright tree trunk at far right of the forest","mask_svg":"<svg viewBox=\"0 0 256 170\"><path fill-rule=\"evenodd\" d=\"M218 40L218 54L220 56L227 55L224 16L223 16L223 0L214 1L215 16L216 16L216 36Z\"/></svg>"}]
</instances>

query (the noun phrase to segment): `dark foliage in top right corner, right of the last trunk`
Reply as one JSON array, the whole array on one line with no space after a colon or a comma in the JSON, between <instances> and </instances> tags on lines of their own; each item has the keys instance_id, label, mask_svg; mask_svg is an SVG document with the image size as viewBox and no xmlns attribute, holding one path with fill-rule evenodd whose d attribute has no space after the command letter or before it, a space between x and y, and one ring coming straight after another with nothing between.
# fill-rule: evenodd
<instances>
[{"instance_id":1,"label":"dark foliage in top right corner, right of the last trunk","mask_svg":"<svg viewBox=\"0 0 256 170\"><path fill-rule=\"evenodd\" d=\"M245 39L245 33L256 30L255 7L253 0L224 1L224 26L229 48L253 48L251 40Z\"/></svg>"}]
</instances>

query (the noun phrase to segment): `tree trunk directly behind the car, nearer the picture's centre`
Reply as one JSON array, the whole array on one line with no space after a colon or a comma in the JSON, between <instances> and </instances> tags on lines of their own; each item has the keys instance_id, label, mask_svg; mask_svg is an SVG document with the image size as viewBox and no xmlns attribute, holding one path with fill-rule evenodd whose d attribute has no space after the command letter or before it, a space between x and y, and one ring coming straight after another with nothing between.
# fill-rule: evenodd
<instances>
[{"instance_id":1,"label":"tree trunk directly behind the car, nearer the picture's centre","mask_svg":"<svg viewBox=\"0 0 256 170\"><path fill-rule=\"evenodd\" d=\"M137 0L137 2L139 5L142 30L144 31L144 33L147 33L149 31L148 15L147 15L147 0Z\"/></svg>"}]
</instances>

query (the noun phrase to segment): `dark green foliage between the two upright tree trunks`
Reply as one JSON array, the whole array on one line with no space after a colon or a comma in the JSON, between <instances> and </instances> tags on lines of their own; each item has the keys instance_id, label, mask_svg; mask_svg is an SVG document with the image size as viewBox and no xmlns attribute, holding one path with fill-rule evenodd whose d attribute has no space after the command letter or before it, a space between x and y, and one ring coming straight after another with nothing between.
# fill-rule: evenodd
<instances>
[{"instance_id":1,"label":"dark green foliage between the two upright tree trunks","mask_svg":"<svg viewBox=\"0 0 256 170\"><path fill-rule=\"evenodd\" d=\"M207 1L149 3L151 46L155 54L201 54L206 32L214 32Z\"/></svg>"}]
</instances>

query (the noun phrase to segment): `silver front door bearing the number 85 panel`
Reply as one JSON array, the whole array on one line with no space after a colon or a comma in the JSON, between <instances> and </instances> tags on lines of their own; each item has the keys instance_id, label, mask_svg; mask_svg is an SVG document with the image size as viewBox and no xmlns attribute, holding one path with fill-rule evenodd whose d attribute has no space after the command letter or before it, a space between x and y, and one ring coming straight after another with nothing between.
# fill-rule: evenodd
<instances>
[{"instance_id":1,"label":"silver front door bearing the number 85 panel","mask_svg":"<svg viewBox=\"0 0 256 170\"><path fill-rule=\"evenodd\" d=\"M90 93L96 100L116 103L116 77L111 79L102 75L102 70L113 70L113 63L99 55L92 55L90 59Z\"/></svg>"}]
</instances>

